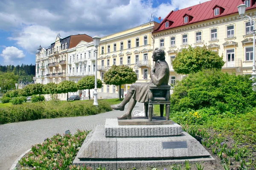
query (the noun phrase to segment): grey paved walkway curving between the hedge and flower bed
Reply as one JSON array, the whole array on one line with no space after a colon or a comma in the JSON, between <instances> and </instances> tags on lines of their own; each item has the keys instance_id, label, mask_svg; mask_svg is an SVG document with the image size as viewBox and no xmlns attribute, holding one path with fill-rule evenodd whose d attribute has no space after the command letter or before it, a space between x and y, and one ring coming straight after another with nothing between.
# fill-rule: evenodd
<instances>
[{"instance_id":1,"label":"grey paved walkway curving between the hedge and flower bed","mask_svg":"<svg viewBox=\"0 0 256 170\"><path fill-rule=\"evenodd\" d=\"M143 103L137 103L134 110L143 111ZM52 137L56 133L63 134L66 130L70 130L71 133L75 133L77 129L92 130L97 125L105 125L105 119L116 118L124 113L125 111L110 111L92 116L41 119L0 125L0 170L9 170L23 152L34 144L44 142L47 137Z\"/></svg>"}]
</instances>

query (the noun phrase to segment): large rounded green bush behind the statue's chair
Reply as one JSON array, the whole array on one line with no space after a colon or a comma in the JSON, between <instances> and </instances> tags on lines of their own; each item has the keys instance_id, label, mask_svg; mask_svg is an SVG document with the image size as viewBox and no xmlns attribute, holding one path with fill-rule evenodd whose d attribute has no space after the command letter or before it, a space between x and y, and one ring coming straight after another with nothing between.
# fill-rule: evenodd
<instances>
[{"instance_id":1,"label":"large rounded green bush behind the statue's chair","mask_svg":"<svg viewBox=\"0 0 256 170\"><path fill-rule=\"evenodd\" d=\"M211 109L212 114L245 113L256 106L256 91L249 76L204 70L177 82L172 111Z\"/></svg>"}]
</instances>

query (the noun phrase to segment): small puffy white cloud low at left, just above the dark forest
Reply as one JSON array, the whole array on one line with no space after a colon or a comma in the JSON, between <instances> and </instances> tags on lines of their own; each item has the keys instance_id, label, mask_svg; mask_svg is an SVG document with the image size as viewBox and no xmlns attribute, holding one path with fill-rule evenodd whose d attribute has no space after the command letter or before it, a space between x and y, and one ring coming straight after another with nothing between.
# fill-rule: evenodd
<instances>
[{"instance_id":1,"label":"small puffy white cloud low at left, just above the dark forest","mask_svg":"<svg viewBox=\"0 0 256 170\"><path fill-rule=\"evenodd\" d=\"M23 51L19 50L14 46L6 47L5 49L3 49L2 54L0 54L0 56L3 57L3 60L7 65L15 64L17 60L21 60L25 58Z\"/></svg>"}]
</instances>

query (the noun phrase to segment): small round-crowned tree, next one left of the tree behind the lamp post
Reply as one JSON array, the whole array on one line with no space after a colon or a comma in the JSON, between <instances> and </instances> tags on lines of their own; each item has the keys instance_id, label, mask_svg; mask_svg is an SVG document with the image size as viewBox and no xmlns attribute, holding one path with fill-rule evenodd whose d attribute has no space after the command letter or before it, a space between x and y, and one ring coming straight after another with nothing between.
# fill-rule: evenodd
<instances>
[{"instance_id":1,"label":"small round-crowned tree, next one left of the tree behind the lamp post","mask_svg":"<svg viewBox=\"0 0 256 170\"><path fill-rule=\"evenodd\" d=\"M68 92L76 92L77 85L75 82L64 80L58 84L59 93L67 93L67 101L68 101Z\"/></svg>"}]
</instances>

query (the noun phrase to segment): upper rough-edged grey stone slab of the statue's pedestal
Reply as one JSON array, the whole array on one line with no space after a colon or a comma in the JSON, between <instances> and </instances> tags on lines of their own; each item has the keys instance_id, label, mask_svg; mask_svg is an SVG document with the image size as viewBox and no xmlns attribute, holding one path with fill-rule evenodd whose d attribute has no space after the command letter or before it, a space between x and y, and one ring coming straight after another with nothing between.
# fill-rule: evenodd
<instances>
[{"instance_id":1,"label":"upper rough-edged grey stone slab of the statue's pedestal","mask_svg":"<svg viewBox=\"0 0 256 170\"><path fill-rule=\"evenodd\" d=\"M118 125L118 119L106 119L106 137L159 137L181 135L182 127L172 125Z\"/></svg>"}]
</instances>

